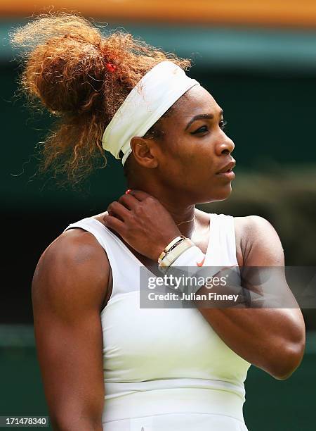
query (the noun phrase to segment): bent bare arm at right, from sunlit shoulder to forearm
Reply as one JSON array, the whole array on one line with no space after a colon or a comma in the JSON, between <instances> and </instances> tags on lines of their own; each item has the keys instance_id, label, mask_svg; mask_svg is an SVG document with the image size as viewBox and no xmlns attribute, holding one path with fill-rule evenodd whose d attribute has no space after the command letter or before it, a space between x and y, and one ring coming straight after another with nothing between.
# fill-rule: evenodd
<instances>
[{"instance_id":1,"label":"bent bare arm at right, from sunlit shoulder to forearm","mask_svg":"<svg viewBox=\"0 0 316 431\"><path fill-rule=\"evenodd\" d=\"M277 232L267 220L244 218L244 266L284 266ZM199 308L223 341L239 356L277 379L289 377L305 349L299 308Z\"/></svg>"}]
</instances>

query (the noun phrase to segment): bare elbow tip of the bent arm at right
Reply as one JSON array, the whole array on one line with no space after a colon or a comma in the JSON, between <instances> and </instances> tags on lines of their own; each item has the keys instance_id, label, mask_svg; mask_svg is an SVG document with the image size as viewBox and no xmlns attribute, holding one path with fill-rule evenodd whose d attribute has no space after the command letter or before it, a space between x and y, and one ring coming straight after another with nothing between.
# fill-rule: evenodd
<instances>
[{"instance_id":1,"label":"bare elbow tip of the bent arm at right","mask_svg":"<svg viewBox=\"0 0 316 431\"><path fill-rule=\"evenodd\" d=\"M288 379L301 364L305 351L305 339L295 344L287 343L277 349L270 358L267 371L277 380Z\"/></svg>"}]
</instances>

